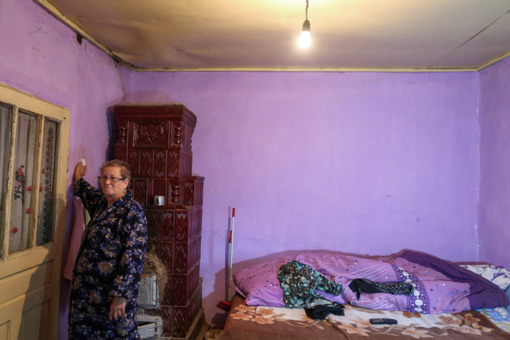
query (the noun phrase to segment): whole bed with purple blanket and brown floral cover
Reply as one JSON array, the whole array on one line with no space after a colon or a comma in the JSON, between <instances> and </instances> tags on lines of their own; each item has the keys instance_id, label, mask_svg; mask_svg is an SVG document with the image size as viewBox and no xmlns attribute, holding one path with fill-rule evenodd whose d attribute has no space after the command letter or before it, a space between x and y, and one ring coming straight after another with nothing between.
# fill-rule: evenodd
<instances>
[{"instance_id":1,"label":"whole bed with purple blanket and brown floral cover","mask_svg":"<svg viewBox=\"0 0 510 340\"><path fill-rule=\"evenodd\" d=\"M285 307L288 300L278 276L289 262L309 266L341 285L342 294L315 292L342 305L344 315L314 319L305 308ZM414 289L407 295L363 291L357 295L349 285L360 278L386 284L407 282ZM297 253L249 266L234 275L234 284L238 294L220 340L510 339L510 318L495 312L510 304L508 289L505 292L466 266L414 250L385 257ZM392 318L397 324L372 325L370 318Z\"/></svg>"}]
</instances>

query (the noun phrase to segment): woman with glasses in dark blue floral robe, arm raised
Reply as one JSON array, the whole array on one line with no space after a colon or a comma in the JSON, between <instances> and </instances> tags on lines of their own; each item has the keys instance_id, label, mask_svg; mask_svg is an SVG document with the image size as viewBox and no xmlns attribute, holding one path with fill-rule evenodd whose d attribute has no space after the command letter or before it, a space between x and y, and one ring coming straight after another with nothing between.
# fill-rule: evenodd
<instances>
[{"instance_id":1,"label":"woman with glasses in dark blue floral robe, arm raised","mask_svg":"<svg viewBox=\"0 0 510 340\"><path fill-rule=\"evenodd\" d=\"M76 257L69 308L69 339L139 339L135 316L147 246L147 221L133 199L129 166L112 160L100 168L101 190L74 170L74 194L91 221Z\"/></svg>"}]
</instances>

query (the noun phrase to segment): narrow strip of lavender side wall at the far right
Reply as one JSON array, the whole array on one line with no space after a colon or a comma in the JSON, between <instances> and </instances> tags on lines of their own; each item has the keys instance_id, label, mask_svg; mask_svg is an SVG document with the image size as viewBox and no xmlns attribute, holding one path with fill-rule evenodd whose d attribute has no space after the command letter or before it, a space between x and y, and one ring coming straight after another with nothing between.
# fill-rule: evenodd
<instances>
[{"instance_id":1,"label":"narrow strip of lavender side wall at the far right","mask_svg":"<svg viewBox=\"0 0 510 340\"><path fill-rule=\"evenodd\" d=\"M480 79L480 257L510 268L510 59Z\"/></svg>"}]
</instances>

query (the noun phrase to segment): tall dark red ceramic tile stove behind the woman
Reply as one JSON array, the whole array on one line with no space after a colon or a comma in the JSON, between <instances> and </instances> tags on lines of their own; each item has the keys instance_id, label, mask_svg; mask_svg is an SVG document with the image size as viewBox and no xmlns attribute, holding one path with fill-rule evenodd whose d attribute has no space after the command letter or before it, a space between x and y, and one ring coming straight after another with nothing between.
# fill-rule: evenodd
<instances>
[{"instance_id":1,"label":"tall dark red ceramic tile stove behind the woman","mask_svg":"<svg viewBox=\"0 0 510 340\"><path fill-rule=\"evenodd\" d=\"M140 288L139 320L160 323L159 337L188 339L202 318L200 244L204 178L192 176L196 117L180 103L113 107L115 157L132 170L134 198L146 211L148 252L161 263ZM164 204L154 204L164 196ZM158 275L166 275L164 284Z\"/></svg>"}]
</instances>

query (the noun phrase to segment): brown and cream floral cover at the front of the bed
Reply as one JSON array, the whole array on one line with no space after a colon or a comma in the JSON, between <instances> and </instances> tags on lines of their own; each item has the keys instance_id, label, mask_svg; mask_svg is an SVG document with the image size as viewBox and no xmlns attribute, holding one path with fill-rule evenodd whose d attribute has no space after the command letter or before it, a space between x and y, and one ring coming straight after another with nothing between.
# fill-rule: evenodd
<instances>
[{"instance_id":1,"label":"brown and cream floral cover at the front of the bed","mask_svg":"<svg viewBox=\"0 0 510 340\"><path fill-rule=\"evenodd\" d=\"M394 318L397 325L371 325L370 318ZM502 327L510 322L502 321ZM283 339L510 339L479 311L421 314L345 305L345 315L325 321L306 316L303 308L248 306L236 295L219 340Z\"/></svg>"}]
</instances>

